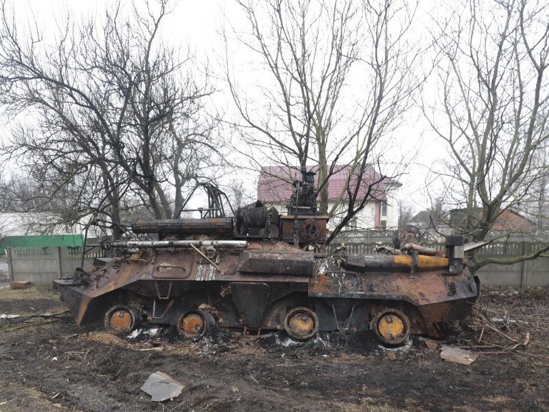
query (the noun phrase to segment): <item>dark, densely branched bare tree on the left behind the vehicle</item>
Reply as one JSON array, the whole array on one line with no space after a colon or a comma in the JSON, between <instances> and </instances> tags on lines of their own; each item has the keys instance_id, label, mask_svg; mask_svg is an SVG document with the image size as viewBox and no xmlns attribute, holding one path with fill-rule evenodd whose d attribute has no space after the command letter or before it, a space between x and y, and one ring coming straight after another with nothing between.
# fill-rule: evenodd
<instances>
[{"instance_id":1,"label":"dark, densely branched bare tree on the left behind the vehicle","mask_svg":"<svg viewBox=\"0 0 549 412\"><path fill-rule=\"evenodd\" d=\"M67 19L53 45L36 26L18 27L6 3L0 12L0 104L18 121L5 158L50 199L71 188L74 219L101 211L119 223L128 194L172 217L211 158L217 119L205 114L213 90L194 56L160 39L167 1Z\"/></svg>"}]
</instances>

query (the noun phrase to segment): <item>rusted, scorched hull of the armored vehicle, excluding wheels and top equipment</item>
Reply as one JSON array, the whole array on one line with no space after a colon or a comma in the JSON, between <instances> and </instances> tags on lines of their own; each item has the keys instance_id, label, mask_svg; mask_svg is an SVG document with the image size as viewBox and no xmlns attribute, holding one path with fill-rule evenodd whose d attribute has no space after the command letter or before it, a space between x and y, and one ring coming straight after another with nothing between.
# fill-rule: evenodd
<instances>
[{"instance_id":1,"label":"rusted, scorched hull of the armored vehicle, excluding wheels and top equipment","mask_svg":"<svg viewBox=\"0 0 549 412\"><path fill-rule=\"evenodd\" d=\"M314 328L326 331L368 330L384 308L404 312L413 333L433 336L440 323L467 317L478 295L467 268L445 275L447 260L421 257L419 270L410 275L408 258L395 264L385 256L349 257L355 263L346 270L335 258L314 258L285 244L251 244L219 251L209 260L194 249L148 249L97 268L86 286L68 279L55 284L78 325L102 319L121 301L149 323L175 325L185 310L207 307L221 327L248 332L284 329L291 308L312 308L318 316ZM361 262L362 271L349 270L359 270ZM303 324L310 321L307 317Z\"/></svg>"}]
</instances>

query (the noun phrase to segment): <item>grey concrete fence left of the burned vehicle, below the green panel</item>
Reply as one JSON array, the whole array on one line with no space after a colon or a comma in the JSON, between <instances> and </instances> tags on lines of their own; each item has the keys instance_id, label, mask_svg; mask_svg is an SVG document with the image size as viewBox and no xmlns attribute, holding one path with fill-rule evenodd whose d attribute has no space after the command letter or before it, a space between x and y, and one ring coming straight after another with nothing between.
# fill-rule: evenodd
<instances>
[{"instance_id":1,"label":"grey concrete fence left of the burned vehicle, below the green panel","mask_svg":"<svg viewBox=\"0 0 549 412\"><path fill-rule=\"evenodd\" d=\"M86 254L84 268L102 257L97 249ZM51 286L59 277L71 276L82 265L82 250L74 247L8 247L6 258L10 281L30 281L36 286Z\"/></svg>"}]
</instances>

